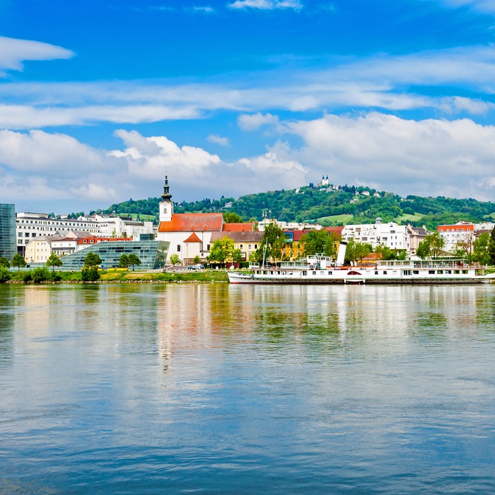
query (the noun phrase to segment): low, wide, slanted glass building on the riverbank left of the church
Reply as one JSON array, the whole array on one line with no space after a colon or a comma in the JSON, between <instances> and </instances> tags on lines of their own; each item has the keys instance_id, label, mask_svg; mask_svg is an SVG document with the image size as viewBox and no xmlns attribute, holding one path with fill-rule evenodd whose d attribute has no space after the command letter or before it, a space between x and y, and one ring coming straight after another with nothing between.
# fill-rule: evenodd
<instances>
[{"instance_id":1,"label":"low, wide, slanted glass building on the riverbank left of the church","mask_svg":"<svg viewBox=\"0 0 495 495\"><path fill-rule=\"evenodd\" d=\"M112 242L103 240L101 243L88 245L81 251L64 256L62 258L64 265L60 269L81 271L88 252L95 252L101 258L104 268L118 267L120 257L122 255L129 256L132 253L141 260L141 265L136 268L141 270L160 268L165 266L169 245L170 243L164 240L117 240Z\"/></svg>"}]
</instances>

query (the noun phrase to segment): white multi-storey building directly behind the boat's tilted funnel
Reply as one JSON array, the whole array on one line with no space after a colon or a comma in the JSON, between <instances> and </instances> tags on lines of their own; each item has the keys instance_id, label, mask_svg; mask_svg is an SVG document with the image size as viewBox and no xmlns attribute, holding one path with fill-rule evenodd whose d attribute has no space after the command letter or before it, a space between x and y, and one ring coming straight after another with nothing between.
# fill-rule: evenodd
<instances>
[{"instance_id":1,"label":"white multi-storey building directly behind the boat's tilted funnel","mask_svg":"<svg viewBox=\"0 0 495 495\"><path fill-rule=\"evenodd\" d=\"M411 250L407 226L397 225L395 222L383 223L380 218L375 223L345 226L342 240L350 239L354 239L356 243L371 244L373 248L383 245L390 249L407 252Z\"/></svg>"}]
</instances>

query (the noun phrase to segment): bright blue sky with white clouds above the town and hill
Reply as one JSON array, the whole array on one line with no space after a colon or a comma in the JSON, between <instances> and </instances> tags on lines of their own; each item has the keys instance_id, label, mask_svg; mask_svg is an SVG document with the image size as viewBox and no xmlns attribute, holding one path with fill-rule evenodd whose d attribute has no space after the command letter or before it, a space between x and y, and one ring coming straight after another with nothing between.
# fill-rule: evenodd
<instances>
[{"instance_id":1,"label":"bright blue sky with white clouds above the town and hill","mask_svg":"<svg viewBox=\"0 0 495 495\"><path fill-rule=\"evenodd\" d=\"M495 0L0 0L0 202L495 201Z\"/></svg>"}]
</instances>

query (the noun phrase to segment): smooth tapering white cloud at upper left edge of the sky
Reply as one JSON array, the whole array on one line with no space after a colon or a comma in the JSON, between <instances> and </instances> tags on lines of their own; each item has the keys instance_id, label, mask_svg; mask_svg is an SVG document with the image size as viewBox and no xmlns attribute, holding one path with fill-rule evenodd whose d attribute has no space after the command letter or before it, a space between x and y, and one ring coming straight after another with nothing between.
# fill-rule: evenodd
<instances>
[{"instance_id":1,"label":"smooth tapering white cloud at upper left edge of the sky","mask_svg":"<svg viewBox=\"0 0 495 495\"><path fill-rule=\"evenodd\" d=\"M6 70L22 71L25 60L70 59L74 52L39 41L0 36L0 75Z\"/></svg>"}]
</instances>

